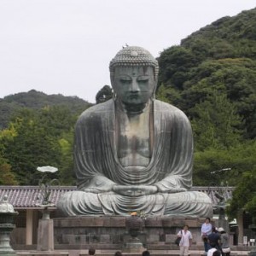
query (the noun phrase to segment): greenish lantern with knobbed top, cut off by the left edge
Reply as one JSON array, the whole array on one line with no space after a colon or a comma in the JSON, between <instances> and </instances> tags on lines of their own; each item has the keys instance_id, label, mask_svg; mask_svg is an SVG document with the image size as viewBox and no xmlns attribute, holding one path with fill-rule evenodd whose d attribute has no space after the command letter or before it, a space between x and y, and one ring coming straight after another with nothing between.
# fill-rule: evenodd
<instances>
[{"instance_id":1,"label":"greenish lantern with knobbed top, cut off by the left edge","mask_svg":"<svg viewBox=\"0 0 256 256\"><path fill-rule=\"evenodd\" d=\"M0 255L16 255L14 249L9 244L9 235L15 229L14 218L18 214L14 207L7 201L4 195L0 204Z\"/></svg>"}]
</instances>

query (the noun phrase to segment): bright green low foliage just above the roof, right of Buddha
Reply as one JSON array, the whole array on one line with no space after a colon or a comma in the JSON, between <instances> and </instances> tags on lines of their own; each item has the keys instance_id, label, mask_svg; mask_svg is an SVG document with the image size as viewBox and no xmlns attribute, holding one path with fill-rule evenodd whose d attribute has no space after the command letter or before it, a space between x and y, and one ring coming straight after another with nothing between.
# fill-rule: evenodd
<instances>
[{"instance_id":1,"label":"bright green low foliage just above the roof, right of Buddha","mask_svg":"<svg viewBox=\"0 0 256 256\"><path fill-rule=\"evenodd\" d=\"M230 148L207 148L196 151L194 185L206 186L212 183L215 185L228 183L230 186L236 186L238 183L244 183L241 180L242 174L255 169L255 155L256 143L252 141L236 143L234 147ZM231 170L211 174L211 172L224 168Z\"/></svg>"}]
</instances>

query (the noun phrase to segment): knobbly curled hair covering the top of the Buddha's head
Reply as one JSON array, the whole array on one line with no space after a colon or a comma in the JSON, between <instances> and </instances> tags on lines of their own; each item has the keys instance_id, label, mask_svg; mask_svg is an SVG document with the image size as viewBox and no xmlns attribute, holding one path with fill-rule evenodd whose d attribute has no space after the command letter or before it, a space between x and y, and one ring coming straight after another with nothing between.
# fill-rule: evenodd
<instances>
[{"instance_id":1,"label":"knobbly curled hair covering the top of the Buddha's head","mask_svg":"<svg viewBox=\"0 0 256 256\"><path fill-rule=\"evenodd\" d=\"M119 66L129 66L129 67L153 67L154 77L158 76L158 62L154 59L153 55L147 49L138 46L127 46L114 56L109 64L110 76L113 77L114 68Z\"/></svg>"}]
</instances>

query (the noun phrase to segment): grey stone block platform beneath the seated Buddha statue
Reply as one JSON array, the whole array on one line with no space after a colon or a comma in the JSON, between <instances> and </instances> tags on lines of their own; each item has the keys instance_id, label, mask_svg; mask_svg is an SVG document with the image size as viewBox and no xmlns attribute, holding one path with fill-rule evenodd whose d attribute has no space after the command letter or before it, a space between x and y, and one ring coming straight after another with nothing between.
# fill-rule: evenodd
<instances>
[{"instance_id":1,"label":"grey stone block platform beneath the seated Buddha statue","mask_svg":"<svg viewBox=\"0 0 256 256\"><path fill-rule=\"evenodd\" d=\"M54 218L55 249L96 249L120 250L130 239L125 228L129 217L73 217ZM144 219L144 227L138 238L148 250L177 250L174 241L184 224L189 225L193 235L193 245L202 248L201 224L205 218L149 217Z\"/></svg>"}]
</instances>

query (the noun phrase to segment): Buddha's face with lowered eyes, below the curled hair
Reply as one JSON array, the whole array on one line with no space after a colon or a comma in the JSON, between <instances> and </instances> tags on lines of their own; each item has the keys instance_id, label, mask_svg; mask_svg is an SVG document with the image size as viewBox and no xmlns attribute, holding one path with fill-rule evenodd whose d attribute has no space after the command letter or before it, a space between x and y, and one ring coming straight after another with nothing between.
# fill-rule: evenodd
<instances>
[{"instance_id":1,"label":"Buddha's face with lowered eyes, below the curled hair","mask_svg":"<svg viewBox=\"0 0 256 256\"><path fill-rule=\"evenodd\" d=\"M116 67L113 90L126 105L145 104L154 93L156 81L153 67Z\"/></svg>"}]
</instances>

